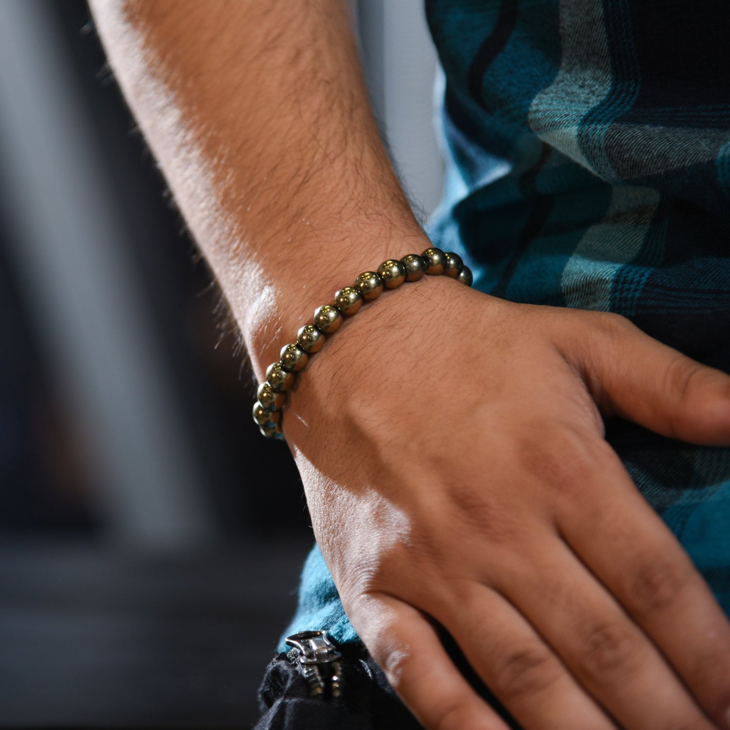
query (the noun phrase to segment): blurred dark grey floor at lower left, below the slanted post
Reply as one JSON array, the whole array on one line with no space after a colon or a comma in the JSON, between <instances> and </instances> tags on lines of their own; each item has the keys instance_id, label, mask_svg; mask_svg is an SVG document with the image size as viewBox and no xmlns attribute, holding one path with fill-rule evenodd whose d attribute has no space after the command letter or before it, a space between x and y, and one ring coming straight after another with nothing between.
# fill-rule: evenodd
<instances>
[{"instance_id":1,"label":"blurred dark grey floor at lower left, below the slanted post","mask_svg":"<svg viewBox=\"0 0 730 730\"><path fill-rule=\"evenodd\" d=\"M250 727L307 549L0 545L0 726Z\"/></svg>"}]
</instances>

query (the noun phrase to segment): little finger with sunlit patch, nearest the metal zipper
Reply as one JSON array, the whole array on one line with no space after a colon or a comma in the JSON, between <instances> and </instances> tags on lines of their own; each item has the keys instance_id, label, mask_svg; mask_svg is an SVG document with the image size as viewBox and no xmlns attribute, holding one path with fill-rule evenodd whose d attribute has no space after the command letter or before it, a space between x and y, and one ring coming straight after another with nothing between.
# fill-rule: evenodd
<instances>
[{"instance_id":1,"label":"little finger with sunlit patch, nearest the metal zipper","mask_svg":"<svg viewBox=\"0 0 730 730\"><path fill-rule=\"evenodd\" d=\"M393 689L428 730L508 730L412 606L371 593L350 612L353 626Z\"/></svg>"}]
</instances>

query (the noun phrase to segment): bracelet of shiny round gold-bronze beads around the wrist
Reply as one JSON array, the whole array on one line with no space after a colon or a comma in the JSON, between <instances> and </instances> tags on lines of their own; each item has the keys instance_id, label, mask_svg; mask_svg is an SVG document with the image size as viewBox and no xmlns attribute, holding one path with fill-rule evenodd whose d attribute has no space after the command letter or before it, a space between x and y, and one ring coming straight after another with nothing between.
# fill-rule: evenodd
<instances>
[{"instance_id":1,"label":"bracelet of shiny round gold-bronze beads around the wrist","mask_svg":"<svg viewBox=\"0 0 730 730\"><path fill-rule=\"evenodd\" d=\"M315 310L314 321L296 333L296 342L284 345L280 359L266 368L266 381L258 386L253 404L253 420L266 438L283 439L281 409L285 391L294 383L294 374L306 364L310 355L319 352L326 335L334 334L345 317L360 310L364 301L377 299L383 288L395 289L407 281L418 281L424 274L445 274L472 285L472 272L458 253L445 253L440 248L427 248L421 255L409 253L400 260L388 258L377 267L377 272L364 272L353 286L345 286L334 294L332 304L323 304Z\"/></svg>"}]
</instances>

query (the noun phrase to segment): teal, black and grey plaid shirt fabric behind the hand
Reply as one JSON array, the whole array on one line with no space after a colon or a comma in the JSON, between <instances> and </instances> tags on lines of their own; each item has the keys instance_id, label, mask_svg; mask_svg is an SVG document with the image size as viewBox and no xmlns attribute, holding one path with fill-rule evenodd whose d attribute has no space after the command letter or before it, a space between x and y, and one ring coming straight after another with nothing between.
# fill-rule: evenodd
<instances>
[{"instance_id":1,"label":"teal, black and grey plaid shirt fabric behind the hand","mask_svg":"<svg viewBox=\"0 0 730 730\"><path fill-rule=\"evenodd\" d=\"M617 312L730 372L727 0L427 0L426 12L445 80L434 245L460 253L480 291ZM730 448L606 426L730 615ZM305 629L358 640L316 547L286 633Z\"/></svg>"}]
</instances>

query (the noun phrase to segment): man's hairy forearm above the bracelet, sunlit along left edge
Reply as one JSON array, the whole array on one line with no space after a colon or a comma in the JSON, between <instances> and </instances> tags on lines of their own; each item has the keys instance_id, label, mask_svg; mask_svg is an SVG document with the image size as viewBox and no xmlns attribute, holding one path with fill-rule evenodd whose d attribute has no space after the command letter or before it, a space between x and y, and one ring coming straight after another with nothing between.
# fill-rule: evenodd
<instances>
[{"instance_id":1,"label":"man's hairy forearm above the bracelet, sunlit along left edge","mask_svg":"<svg viewBox=\"0 0 730 730\"><path fill-rule=\"evenodd\" d=\"M369 110L345 5L91 0L259 378L334 288L407 253L408 239L423 243Z\"/></svg>"}]
</instances>

